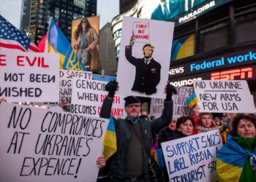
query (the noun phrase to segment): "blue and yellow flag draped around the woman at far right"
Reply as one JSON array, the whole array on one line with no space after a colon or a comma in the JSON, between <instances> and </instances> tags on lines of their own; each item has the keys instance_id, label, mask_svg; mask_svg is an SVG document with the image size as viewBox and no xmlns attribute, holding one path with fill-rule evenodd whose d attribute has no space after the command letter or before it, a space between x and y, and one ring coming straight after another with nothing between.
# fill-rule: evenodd
<instances>
[{"instance_id":1,"label":"blue and yellow flag draped around the woman at far right","mask_svg":"<svg viewBox=\"0 0 256 182\"><path fill-rule=\"evenodd\" d=\"M256 152L256 151L255 151ZM217 158L217 175L219 181L238 182L246 165L246 160L252 155L244 150L232 138L220 149ZM250 176L246 176L250 178Z\"/></svg>"}]
</instances>

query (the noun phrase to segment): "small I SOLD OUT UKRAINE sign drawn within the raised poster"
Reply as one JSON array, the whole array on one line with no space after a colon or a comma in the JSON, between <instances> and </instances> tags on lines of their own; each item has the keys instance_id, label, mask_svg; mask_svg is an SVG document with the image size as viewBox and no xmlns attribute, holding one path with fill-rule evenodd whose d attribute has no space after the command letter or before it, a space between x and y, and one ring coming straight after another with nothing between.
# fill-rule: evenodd
<instances>
[{"instance_id":1,"label":"small I SOLD OUT UKRAINE sign drawn within the raised poster","mask_svg":"<svg viewBox=\"0 0 256 182\"><path fill-rule=\"evenodd\" d=\"M137 42L149 42L149 24L148 23L133 23L133 36Z\"/></svg>"}]
</instances>

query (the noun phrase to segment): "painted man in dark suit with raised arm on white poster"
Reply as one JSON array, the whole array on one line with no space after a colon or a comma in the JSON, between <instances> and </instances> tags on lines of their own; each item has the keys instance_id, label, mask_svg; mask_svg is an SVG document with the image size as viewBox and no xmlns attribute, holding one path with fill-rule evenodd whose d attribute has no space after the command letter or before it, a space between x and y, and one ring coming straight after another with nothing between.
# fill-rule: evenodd
<instances>
[{"instance_id":1,"label":"painted man in dark suit with raised arm on white poster","mask_svg":"<svg viewBox=\"0 0 256 182\"><path fill-rule=\"evenodd\" d=\"M152 58L154 46L145 44L143 46L144 58L135 58L132 56L132 46L134 37L129 41L129 46L125 47L125 57L136 68L135 82L132 91L152 95L157 92L157 84L160 82L161 65Z\"/></svg>"}]
</instances>

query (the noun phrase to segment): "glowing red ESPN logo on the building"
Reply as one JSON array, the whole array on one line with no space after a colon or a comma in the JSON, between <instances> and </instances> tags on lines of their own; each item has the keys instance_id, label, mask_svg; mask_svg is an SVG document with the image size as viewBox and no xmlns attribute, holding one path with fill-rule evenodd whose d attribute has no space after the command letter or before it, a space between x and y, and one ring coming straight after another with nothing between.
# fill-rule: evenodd
<instances>
[{"instance_id":1,"label":"glowing red ESPN logo on the building","mask_svg":"<svg viewBox=\"0 0 256 182\"><path fill-rule=\"evenodd\" d=\"M252 79L252 77L252 67L234 69L230 71L220 71L211 74L211 80Z\"/></svg>"}]
</instances>

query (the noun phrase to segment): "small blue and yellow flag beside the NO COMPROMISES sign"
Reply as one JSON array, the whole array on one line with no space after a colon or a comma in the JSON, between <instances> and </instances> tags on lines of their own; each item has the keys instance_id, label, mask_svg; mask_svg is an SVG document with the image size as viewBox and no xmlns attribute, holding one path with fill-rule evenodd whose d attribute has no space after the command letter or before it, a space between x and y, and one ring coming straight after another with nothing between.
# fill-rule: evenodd
<instances>
[{"instance_id":1,"label":"small blue and yellow flag beside the NO COMPROMISES sign","mask_svg":"<svg viewBox=\"0 0 256 182\"><path fill-rule=\"evenodd\" d=\"M115 129L113 116L110 116L108 127L103 140L103 146L104 146L103 155L105 159L108 160L113 154L116 153L116 150L117 150L116 129Z\"/></svg>"}]
</instances>

